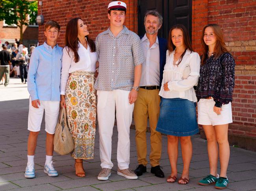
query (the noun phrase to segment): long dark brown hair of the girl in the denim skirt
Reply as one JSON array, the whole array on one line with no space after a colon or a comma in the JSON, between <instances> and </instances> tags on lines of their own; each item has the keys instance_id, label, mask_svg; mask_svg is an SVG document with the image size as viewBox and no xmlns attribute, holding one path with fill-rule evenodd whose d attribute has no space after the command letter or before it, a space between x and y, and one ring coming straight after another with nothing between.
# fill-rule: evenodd
<instances>
[{"instance_id":1,"label":"long dark brown hair of the girl in the denim skirt","mask_svg":"<svg viewBox=\"0 0 256 191\"><path fill-rule=\"evenodd\" d=\"M173 27L171 27L170 29L170 32L169 32L169 35L168 35L168 44L167 44L167 49L169 50L169 55L174 51L174 49L176 48L173 44L173 41L172 41L172 30L173 29L180 29L182 30L182 33L183 33L183 41L184 41L184 46L185 46L185 51L182 53L181 55L181 59L180 61L178 62L178 65L180 64L180 62L182 61L182 58L183 56L185 55L187 49L189 51L193 51L192 49L192 45L191 45L191 41L189 39L189 35L188 35L188 31L186 29L186 27L182 24L177 24L177 25L174 25Z\"/></svg>"}]
</instances>

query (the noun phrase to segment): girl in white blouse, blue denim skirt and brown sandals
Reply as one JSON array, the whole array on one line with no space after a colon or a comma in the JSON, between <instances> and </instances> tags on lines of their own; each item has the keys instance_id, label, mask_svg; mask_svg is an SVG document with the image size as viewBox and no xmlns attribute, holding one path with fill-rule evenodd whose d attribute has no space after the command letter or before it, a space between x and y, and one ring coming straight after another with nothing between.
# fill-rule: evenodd
<instances>
[{"instance_id":1,"label":"girl in white blouse, blue denim skirt and brown sandals","mask_svg":"<svg viewBox=\"0 0 256 191\"><path fill-rule=\"evenodd\" d=\"M189 183L189 165L192 157L191 135L198 133L196 118L197 97L194 85L200 71L200 57L192 51L191 42L184 25L174 25L168 38L166 64L159 95L160 116L156 130L167 134L167 152L171 175L167 182L177 177L178 140L182 149L183 171L178 184Z\"/></svg>"}]
</instances>

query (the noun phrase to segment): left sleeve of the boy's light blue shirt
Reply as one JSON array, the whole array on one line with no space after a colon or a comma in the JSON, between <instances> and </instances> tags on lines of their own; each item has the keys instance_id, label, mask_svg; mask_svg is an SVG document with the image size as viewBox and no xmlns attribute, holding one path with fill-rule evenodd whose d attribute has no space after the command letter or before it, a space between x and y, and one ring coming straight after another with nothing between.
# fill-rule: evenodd
<instances>
[{"instance_id":1,"label":"left sleeve of the boy's light blue shirt","mask_svg":"<svg viewBox=\"0 0 256 191\"><path fill-rule=\"evenodd\" d=\"M37 67L39 64L39 54L38 50L34 49L31 57L30 57L30 65L28 70L28 92L31 96L31 100L37 100L37 87L35 84L35 74L37 73Z\"/></svg>"}]
</instances>

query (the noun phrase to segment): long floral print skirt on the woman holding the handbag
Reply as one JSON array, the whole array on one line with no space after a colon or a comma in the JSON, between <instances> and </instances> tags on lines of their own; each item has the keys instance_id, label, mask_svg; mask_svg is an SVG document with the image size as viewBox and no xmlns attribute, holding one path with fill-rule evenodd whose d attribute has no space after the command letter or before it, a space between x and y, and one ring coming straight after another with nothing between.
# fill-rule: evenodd
<instances>
[{"instance_id":1,"label":"long floral print skirt on the woman holding the handbag","mask_svg":"<svg viewBox=\"0 0 256 191\"><path fill-rule=\"evenodd\" d=\"M66 86L68 127L74 140L71 156L75 159L94 158L97 113L94 82L94 72L75 71Z\"/></svg>"}]
</instances>

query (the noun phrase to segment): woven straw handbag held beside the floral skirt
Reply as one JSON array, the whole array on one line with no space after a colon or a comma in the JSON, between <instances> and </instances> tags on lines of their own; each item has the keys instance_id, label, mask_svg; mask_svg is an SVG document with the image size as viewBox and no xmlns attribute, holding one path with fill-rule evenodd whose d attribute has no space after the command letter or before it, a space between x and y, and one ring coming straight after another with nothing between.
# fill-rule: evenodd
<instances>
[{"instance_id":1,"label":"woven straw handbag held beside the floral skirt","mask_svg":"<svg viewBox=\"0 0 256 191\"><path fill-rule=\"evenodd\" d=\"M64 116L64 119L63 119ZM63 126L64 125L64 126ZM66 109L63 107L54 135L54 151L59 155L67 155L74 150L74 141L67 126Z\"/></svg>"}]
</instances>

